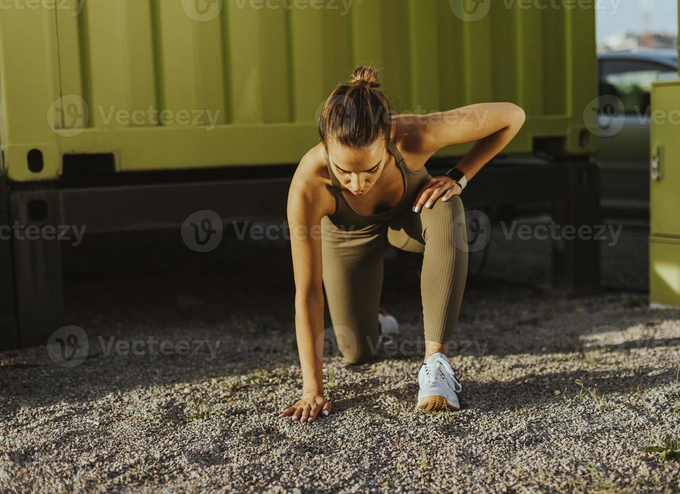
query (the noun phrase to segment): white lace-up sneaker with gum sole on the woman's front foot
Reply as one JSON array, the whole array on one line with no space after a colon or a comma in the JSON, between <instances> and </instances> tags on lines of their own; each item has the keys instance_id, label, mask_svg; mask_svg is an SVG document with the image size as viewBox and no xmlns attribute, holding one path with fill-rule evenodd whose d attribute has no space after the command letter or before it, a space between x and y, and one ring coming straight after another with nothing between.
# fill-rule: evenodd
<instances>
[{"instance_id":1,"label":"white lace-up sneaker with gum sole on the woman's front foot","mask_svg":"<svg viewBox=\"0 0 680 494\"><path fill-rule=\"evenodd\" d=\"M462 386L443 353L432 353L418 372L418 408L426 412L460 410L458 395Z\"/></svg>"}]
</instances>

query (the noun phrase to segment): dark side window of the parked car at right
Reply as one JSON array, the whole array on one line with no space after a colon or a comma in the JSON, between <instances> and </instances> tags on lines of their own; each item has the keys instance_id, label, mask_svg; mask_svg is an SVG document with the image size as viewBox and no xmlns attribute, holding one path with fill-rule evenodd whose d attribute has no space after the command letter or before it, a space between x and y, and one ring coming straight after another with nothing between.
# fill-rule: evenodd
<instances>
[{"instance_id":1,"label":"dark side window of the parked car at right","mask_svg":"<svg viewBox=\"0 0 680 494\"><path fill-rule=\"evenodd\" d=\"M602 60L600 95L613 94L623 102L627 114L645 115L650 103L651 83L677 77L664 65L639 60Z\"/></svg>"}]
</instances>

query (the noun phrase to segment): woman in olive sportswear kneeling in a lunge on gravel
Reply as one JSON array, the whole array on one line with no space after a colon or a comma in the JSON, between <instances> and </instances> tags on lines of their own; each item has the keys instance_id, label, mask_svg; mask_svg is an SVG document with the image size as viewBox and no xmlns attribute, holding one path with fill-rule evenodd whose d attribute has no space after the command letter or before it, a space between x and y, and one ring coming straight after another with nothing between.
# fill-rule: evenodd
<instances>
[{"instance_id":1,"label":"woman in olive sportswear kneeling in a lunge on gravel","mask_svg":"<svg viewBox=\"0 0 680 494\"><path fill-rule=\"evenodd\" d=\"M418 408L458 410L461 386L446 357L467 275L460 192L524 124L513 103L479 103L392 116L377 72L359 67L330 95L321 142L303 156L288 193L300 400L279 417L312 422L324 397L324 294L337 345L350 364L371 360L380 332L383 254L390 245L423 254L424 362ZM442 147L478 141L446 175L424 164Z\"/></svg>"}]
</instances>

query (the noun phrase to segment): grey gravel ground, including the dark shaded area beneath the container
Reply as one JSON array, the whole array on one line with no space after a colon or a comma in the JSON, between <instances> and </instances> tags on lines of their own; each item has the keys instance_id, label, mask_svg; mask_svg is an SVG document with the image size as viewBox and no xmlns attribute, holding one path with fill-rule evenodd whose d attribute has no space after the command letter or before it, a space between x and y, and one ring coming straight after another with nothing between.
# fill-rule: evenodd
<instances>
[{"instance_id":1,"label":"grey gravel ground, including the dark shaded area beneath the container","mask_svg":"<svg viewBox=\"0 0 680 494\"><path fill-rule=\"evenodd\" d=\"M66 368L43 348L0 353L1 491L680 491L680 462L643 451L680 439L680 310L647 308L645 232L607 247L602 294L563 300L531 285L549 280L549 243L494 229L449 355L458 412L413 408L418 256L388 256L398 351L346 366L331 349L333 412L312 424L277 418L301 385L288 251L198 254L177 236L65 251L88 355ZM219 347L107 351L150 337Z\"/></svg>"}]
</instances>

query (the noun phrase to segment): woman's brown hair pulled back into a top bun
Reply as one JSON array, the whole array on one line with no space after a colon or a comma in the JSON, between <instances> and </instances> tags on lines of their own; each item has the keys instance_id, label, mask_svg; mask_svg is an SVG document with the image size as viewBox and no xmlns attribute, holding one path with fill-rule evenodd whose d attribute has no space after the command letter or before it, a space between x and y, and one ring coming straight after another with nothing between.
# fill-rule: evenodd
<instances>
[{"instance_id":1,"label":"woman's brown hair pulled back into a top bun","mask_svg":"<svg viewBox=\"0 0 680 494\"><path fill-rule=\"evenodd\" d=\"M362 65L346 84L333 90L319 118L319 134L326 149L328 141L359 149L390 138L392 109L379 87L377 71Z\"/></svg>"}]
</instances>

